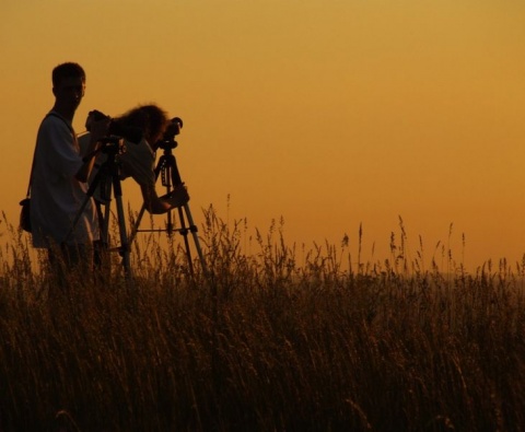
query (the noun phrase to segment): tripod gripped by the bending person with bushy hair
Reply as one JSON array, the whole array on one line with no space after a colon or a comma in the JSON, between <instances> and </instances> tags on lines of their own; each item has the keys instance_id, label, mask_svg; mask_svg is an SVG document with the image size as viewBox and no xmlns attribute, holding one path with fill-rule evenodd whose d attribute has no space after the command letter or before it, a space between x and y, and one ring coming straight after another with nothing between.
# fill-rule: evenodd
<instances>
[{"instance_id":1,"label":"tripod gripped by the bending person with bushy hair","mask_svg":"<svg viewBox=\"0 0 525 432\"><path fill-rule=\"evenodd\" d=\"M158 180L159 176L161 176L162 186L166 188L166 196L170 196L170 194L176 187L184 187L184 183L180 179L180 174L178 172L177 161L173 154L173 149L177 147L177 142L175 141L174 137L179 132L179 127L182 127L182 120L177 117L174 118L172 120L172 126L174 126L174 128L171 129L171 132L168 130L168 132L164 135L163 140L158 142L159 148L163 149L164 153L159 159L159 162L154 170L155 180ZM144 205L142 205L142 208L140 209L140 212L137 217L137 221L135 222L135 225L131 230L129 243L132 244L137 233L139 232L166 232L168 236L171 236L174 232L178 232L183 235L183 238L184 238L184 246L186 250L186 258L188 261L189 272L191 276L195 276L194 261L191 258L191 250L189 247L189 238L188 238L188 234L191 233L191 237L194 240L197 254L199 256L202 271L205 276L208 275L208 269L206 267L205 257L202 255L202 249L200 247L199 237L197 234L198 229L197 229L197 225L194 223L194 219L191 217L191 211L189 210L188 202L185 202L184 205L177 207L178 219L180 221L180 227L178 229L175 227L174 218L172 215L172 211L170 210L166 214L166 225L164 229L140 230L139 225L144 214L144 210L145 210L145 207Z\"/></svg>"}]
</instances>

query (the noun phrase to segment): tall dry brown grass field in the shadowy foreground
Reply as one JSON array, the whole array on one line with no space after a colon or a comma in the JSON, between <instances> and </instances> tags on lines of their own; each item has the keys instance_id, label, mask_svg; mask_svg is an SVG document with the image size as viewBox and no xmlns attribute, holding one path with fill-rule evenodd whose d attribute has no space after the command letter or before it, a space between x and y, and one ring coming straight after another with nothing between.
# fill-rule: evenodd
<instances>
[{"instance_id":1,"label":"tall dry brown grass field in the shadowy foreground","mask_svg":"<svg viewBox=\"0 0 525 432\"><path fill-rule=\"evenodd\" d=\"M523 264L423 266L402 226L382 262L298 258L277 225L205 219L206 277L150 236L132 284L117 264L51 299L2 222L1 432L525 430Z\"/></svg>"}]
</instances>

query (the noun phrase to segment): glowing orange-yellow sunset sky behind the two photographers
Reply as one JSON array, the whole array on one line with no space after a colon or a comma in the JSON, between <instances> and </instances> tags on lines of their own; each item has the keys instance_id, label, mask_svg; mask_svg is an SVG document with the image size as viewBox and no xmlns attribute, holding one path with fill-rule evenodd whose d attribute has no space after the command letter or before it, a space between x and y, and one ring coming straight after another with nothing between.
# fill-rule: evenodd
<instances>
[{"instance_id":1,"label":"glowing orange-yellow sunset sky behind the two photographers","mask_svg":"<svg viewBox=\"0 0 525 432\"><path fill-rule=\"evenodd\" d=\"M413 257L420 236L428 259L441 242L472 270L525 253L521 0L1 0L0 15L12 223L50 71L78 61L78 132L95 108L154 102L183 118L198 224L210 203L262 233L282 217L289 243L348 234L353 255L362 224L375 261L401 217ZM132 180L125 199L140 207Z\"/></svg>"}]
</instances>

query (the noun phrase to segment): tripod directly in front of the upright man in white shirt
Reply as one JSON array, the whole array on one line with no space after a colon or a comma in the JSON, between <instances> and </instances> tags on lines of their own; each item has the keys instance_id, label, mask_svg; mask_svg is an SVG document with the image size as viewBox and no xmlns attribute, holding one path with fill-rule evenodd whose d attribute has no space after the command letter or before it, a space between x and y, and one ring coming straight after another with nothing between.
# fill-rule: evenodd
<instances>
[{"instance_id":1,"label":"tripod directly in front of the upright man in white shirt","mask_svg":"<svg viewBox=\"0 0 525 432\"><path fill-rule=\"evenodd\" d=\"M73 220L71 230L67 237L71 235L72 231L77 226L77 223L85 206L92 199L95 190L97 190L97 187L101 186L98 189L101 196L100 196L100 200L97 200L98 202L96 202L96 210L97 210L100 225L101 225L100 231L101 231L102 247L108 252L118 252L120 254L120 256L122 257L122 267L126 275L126 279L130 281L131 280L131 267L130 267L130 257L129 257L130 242L128 241L128 234L126 232L126 218L125 218L124 205L122 205L122 186L120 183L120 176L118 173L118 163L117 163L117 155L124 151L122 140L119 137L107 137L102 139L101 142L103 143L103 147L96 152L102 151L107 155L107 157L102 163L101 167L98 168L98 172L93 178L93 182L90 184L85 199L82 202L82 206L80 207ZM90 156L93 157L94 154ZM117 203L117 221L118 221L118 231L120 236L120 246L116 248L108 247L109 245L109 233L108 233L109 223L108 222L109 222L109 214L110 214L109 205L112 200L112 188L113 188L115 200ZM102 215L101 202L105 202L104 215Z\"/></svg>"}]
</instances>

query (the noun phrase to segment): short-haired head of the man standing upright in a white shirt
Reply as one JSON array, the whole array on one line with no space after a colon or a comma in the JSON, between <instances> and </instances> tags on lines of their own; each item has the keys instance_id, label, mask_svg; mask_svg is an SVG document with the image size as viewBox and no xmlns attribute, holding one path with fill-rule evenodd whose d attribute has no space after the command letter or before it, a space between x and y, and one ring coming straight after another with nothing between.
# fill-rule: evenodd
<instances>
[{"instance_id":1,"label":"short-haired head of the man standing upright in a white shirt","mask_svg":"<svg viewBox=\"0 0 525 432\"><path fill-rule=\"evenodd\" d=\"M52 70L52 94L56 108L74 113L85 91L85 72L78 63L58 65Z\"/></svg>"}]
</instances>

